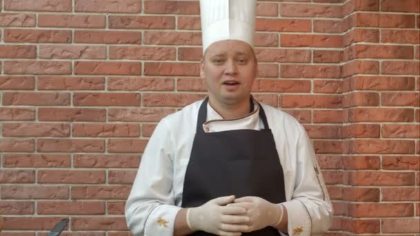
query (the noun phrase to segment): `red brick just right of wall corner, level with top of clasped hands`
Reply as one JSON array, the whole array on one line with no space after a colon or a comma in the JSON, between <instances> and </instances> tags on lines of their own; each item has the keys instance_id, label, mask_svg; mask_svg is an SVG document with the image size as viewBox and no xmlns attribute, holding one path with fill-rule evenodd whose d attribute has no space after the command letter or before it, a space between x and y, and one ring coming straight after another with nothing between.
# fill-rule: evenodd
<instances>
[{"instance_id":1,"label":"red brick just right of wall corner, level with top of clasped hands","mask_svg":"<svg viewBox=\"0 0 420 236\"><path fill-rule=\"evenodd\" d=\"M347 201L379 201L379 188L343 188L343 200Z\"/></svg>"}]
</instances>

